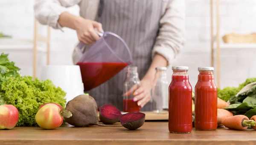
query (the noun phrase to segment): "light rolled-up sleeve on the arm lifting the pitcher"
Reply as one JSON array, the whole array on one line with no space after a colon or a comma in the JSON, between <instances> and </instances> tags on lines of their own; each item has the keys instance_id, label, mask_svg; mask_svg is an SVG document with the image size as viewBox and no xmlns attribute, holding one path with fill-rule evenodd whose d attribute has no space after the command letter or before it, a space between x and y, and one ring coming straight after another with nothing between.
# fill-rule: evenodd
<instances>
[{"instance_id":1,"label":"light rolled-up sleeve on the arm lifting the pitcher","mask_svg":"<svg viewBox=\"0 0 256 145\"><path fill-rule=\"evenodd\" d=\"M55 29L61 29L58 18L61 13L67 11L67 7L74 6L81 0L35 0L35 18L43 25L49 25Z\"/></svg>"}]
</instances>

